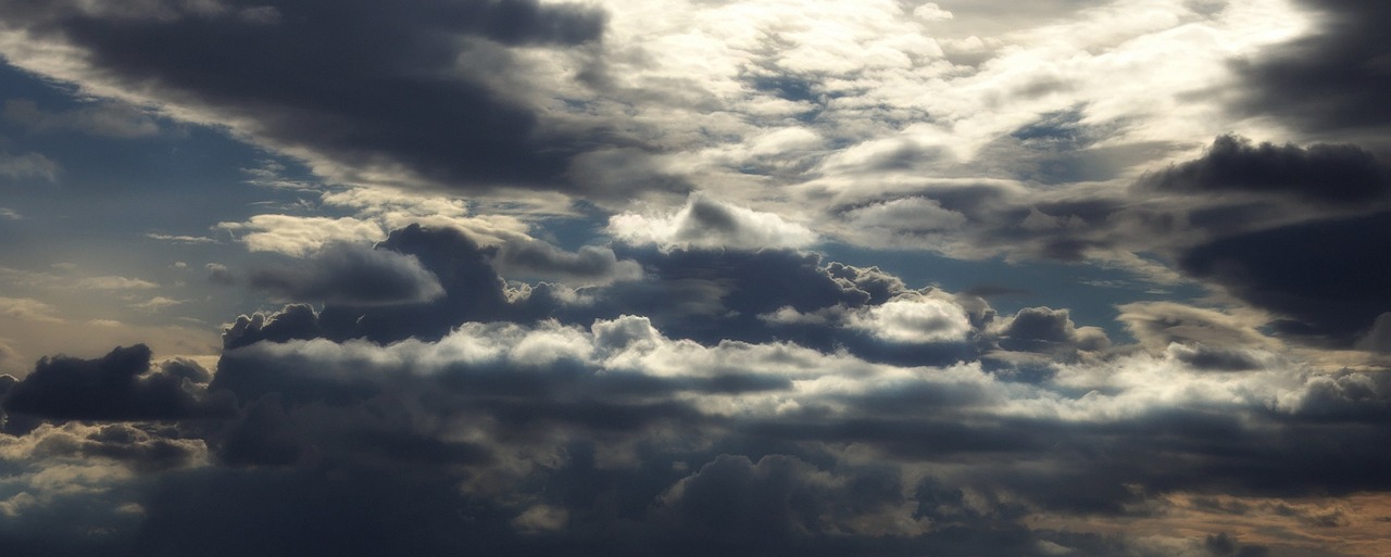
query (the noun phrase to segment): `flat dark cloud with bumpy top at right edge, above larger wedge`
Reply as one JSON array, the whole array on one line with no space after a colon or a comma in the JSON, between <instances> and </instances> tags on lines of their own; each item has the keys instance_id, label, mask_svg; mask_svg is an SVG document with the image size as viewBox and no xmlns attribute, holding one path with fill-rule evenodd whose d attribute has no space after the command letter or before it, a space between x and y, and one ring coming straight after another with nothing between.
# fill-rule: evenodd
<instances>
[{"instance_id":1,"label":"flat dark cloud with bumpy top at right edge, above larger wedge","mask_svg":"<svg viewBox=\"0 0 1391 557\"><path fill-rule=\"evenodd\" d=\"M1391 168L1353 144L1252 144L1220 136L1202 158L1149 174L1142 186L1164 192L1292 194L1328 204L1365 204L1391 194Z\"/></svg>"}]
</instances>

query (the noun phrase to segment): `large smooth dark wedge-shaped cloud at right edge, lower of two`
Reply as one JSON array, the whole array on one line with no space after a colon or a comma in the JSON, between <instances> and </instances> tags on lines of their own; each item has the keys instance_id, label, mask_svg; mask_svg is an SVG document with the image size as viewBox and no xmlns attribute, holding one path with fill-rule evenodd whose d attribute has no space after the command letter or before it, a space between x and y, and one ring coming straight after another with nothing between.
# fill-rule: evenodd
<instances>
[{"instance_id":1,"label":"large smooth dark wedge-shaped cloud at right edge, lower of two","mask_svg":"<svg viewBox=\"0 0 1391 557\"><path fill-rule=\"evenodd\" d=\"M1391 310L1391 213L1280 226L1182 253L1180 268L1284 317L1296 335L1351 344Z\"/></svg>"}]
</instances>

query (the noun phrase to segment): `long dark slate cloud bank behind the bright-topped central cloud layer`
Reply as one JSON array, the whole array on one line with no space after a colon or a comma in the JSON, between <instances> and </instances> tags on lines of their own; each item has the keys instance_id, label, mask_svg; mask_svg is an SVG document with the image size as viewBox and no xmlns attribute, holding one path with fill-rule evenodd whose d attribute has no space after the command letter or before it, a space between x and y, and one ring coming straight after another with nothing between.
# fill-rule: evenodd
<instances>
[{"instance_id":1,"label":"long dark slate cloud bank behind the bright-topped central cloud layer","mask_svg":"<svg viewBox=\"0 0 1391 557\"><path fill-rule=\"evenodd\" d=\"M510 251L509 250L520 250ZM524 250L531 251L524 251ZM644 315L654 325L676 338L714 344L722 340L768 342L786 339L807 346L830 349L842 344L885 361L950 363L974 354L970 339L933 342L899 342L882 338L875 326L849 326L849 322L785 324L765 317L782 308L812 314L882 306L908 292L903 282L876 268L822 264L819 256L796 250L733 249L659 249L625 246L608 250L580 250L568 254L548 244L480 249L467 236L452 229L409 226L394 231L380 250L408 254L440 279L444 296L416 304L369 306L330 300L323 311L289 306L282 315L242 317L224 332L224 346L238 347L262 339L289 340L327 338L345 340L364 338L389 343L405 339L435 340L452 328L470 321L536 322L559 319L587 325L594 319L612 319L625 314ZM508 292L495 267L581 265L586 253L618 264L608 272L627 281L587 288L538 283ZM641 265L641 275L637 275ZM581 265L587 267L587 265ZM334 275L335 281L342 281ZM943 304L956 306L954 301ZM976 318L989 313L988 304L975 308ZM912 307L904 307L911 310ZM963 314L971 314L964 307ZM883 317L883 315L881 315ZM900 315L911 318L912 315ZM869 321L885 318L867 315ZM864 321L864 319L861 319ZM864 321L868 324L869 321ZM938 329L954 331L956 322L939 322ZM906 322L899 324L908 326ZM951 325L951 326L947 326ZM868 328L867 328L868 326ZM887 325L885 325L887 326ZM960 324L967 328L968 325ZM901 336L901 335L900 335ZM919 335L921 336L921 335Z\"/></svg>"}]
</instances>

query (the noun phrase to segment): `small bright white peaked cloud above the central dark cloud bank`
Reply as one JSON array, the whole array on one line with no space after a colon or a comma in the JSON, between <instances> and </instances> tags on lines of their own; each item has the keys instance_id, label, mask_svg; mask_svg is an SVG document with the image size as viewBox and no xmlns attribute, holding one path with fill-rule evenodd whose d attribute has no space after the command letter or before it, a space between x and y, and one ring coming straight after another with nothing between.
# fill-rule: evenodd
<instances>
[{"instance_id":1,"label":"small bright white peaked cloud above the central dark cloud bank","mask_svg":"<svg viewBox=\"0 0 1391 557\"><path fill-rule=\"evenodd\" d=\"M800 224L705 196L691 196L666 215L615 215L608 232L619 240L664 247L803 247L817 242L817 235Z\"/></svg>"}]
</instances>

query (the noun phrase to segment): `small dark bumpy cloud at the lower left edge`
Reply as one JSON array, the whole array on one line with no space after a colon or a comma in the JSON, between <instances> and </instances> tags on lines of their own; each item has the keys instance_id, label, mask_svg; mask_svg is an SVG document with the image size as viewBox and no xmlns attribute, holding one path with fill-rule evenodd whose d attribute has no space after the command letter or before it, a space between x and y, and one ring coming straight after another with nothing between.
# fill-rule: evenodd
<instances>
[{"instance_id":1,"label":"small dark bumpy cloud at the lower left edge","mask_svg":"<svg viewBox=\"0 0 1391 557\"><path fill-rule=\"evenodd\" d=\"M145 344L118 347L82 360L42 358L33 372L4 394L0 407L13 417L46 419L181 419L227 413L225 400L207 399L195 385L189 363L152 369Z\"/></svg>"}]
</instances>

